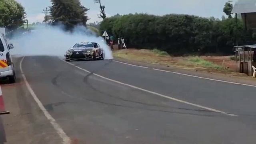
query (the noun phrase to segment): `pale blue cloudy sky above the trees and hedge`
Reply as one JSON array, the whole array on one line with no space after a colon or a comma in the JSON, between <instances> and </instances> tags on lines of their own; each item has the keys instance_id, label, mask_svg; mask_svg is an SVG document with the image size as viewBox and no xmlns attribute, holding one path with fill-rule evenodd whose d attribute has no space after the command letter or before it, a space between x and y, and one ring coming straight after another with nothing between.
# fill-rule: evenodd
<instances>
[{"instance_id":1,"label":"pale blue cloudy sky above the trees and hedge","mask_svg":"<svg viewBox=\"0 0 256 144\"><path fill-rule=\"evenodd\" d=\"M50 0L17 0L24 6L29 23L44 20L43 9L51 6ZM101 21L99 5L94 0L80 0L82 5L90 8L87 12L90 22ZM107 16L115 14L147 13L155 15L164 14L191 14L202 17L221 18L223 7L228 0L101 0L106 6ZM233 0L234 2L236 0ZM234 4L234 2L232 2Z\"/></svg>"}]
</instances>

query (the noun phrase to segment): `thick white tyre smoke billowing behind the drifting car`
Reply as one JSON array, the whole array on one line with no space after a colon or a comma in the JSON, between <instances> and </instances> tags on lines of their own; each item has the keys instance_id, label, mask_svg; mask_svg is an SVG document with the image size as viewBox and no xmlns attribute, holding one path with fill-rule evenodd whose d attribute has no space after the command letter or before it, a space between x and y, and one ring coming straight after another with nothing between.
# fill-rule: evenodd
<instances>
[{"instance_id":1,"label":"thick white tyre smoke billowing behind the drifting car","mask_svg":"<svg viewBox=\"0 0 256 144\"><path fill-rule=\"evenodd\" d=\"M14 34L12 54L22 56L62 56L68 48L78 42L97 42L104 49L105 58L112 59L112 52L104 39L92 34L85 27L78 26L72 33L61 26L38 26L26 34Z\"/></svg>"}]
</instances>

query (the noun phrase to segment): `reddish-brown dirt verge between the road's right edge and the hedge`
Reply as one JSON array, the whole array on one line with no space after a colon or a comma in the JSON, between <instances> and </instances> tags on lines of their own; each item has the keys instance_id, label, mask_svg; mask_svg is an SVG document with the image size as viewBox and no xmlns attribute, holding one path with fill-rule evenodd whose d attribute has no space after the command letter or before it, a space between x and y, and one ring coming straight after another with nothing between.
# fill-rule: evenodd
<instances>
[{"instance_id":1,"label":"reddish-brown dirt verge between the road's right edge and the hedge","mask_svg":"<svg viewBox=\"0 0 256 144\"><path fill-rule=\"evenodd\" d=\"M256 85L256 79L236 72L236 62L230 59L230 56L200 56L199 58L212 62L220 67L224 60L223 69L209 68L202 65L195 65L187 62L185 57L162 56L155 54L150 50L124 49L114 50L113 56L116 60L135 64L140 66L147 66L149 68L157 68L161 70L169 70L172 72L181 72L184 74L191 74L194 76L202 76L206 78L214 78L217 80L225 80L230 82L237 82L243 84Z\"/></svg>"}]
</instances>

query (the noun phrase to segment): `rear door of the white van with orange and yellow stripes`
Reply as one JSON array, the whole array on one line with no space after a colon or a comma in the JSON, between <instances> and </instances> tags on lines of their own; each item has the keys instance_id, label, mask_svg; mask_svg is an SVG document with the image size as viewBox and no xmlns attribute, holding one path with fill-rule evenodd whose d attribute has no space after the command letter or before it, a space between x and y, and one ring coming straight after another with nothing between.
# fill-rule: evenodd
<instances>
[{"instance_id":1,"label":"rear door of the white van with orange and yellow stripes","mask_svg":"<svg viewBox=\"0 0 256 144\"><path fill-rule=\"evenodd\" d=\"M8 46L4 39L0 37L0 72L5 72L9 70L7 64L6 53L8 52Z\"/></svg>"}]
</instances>

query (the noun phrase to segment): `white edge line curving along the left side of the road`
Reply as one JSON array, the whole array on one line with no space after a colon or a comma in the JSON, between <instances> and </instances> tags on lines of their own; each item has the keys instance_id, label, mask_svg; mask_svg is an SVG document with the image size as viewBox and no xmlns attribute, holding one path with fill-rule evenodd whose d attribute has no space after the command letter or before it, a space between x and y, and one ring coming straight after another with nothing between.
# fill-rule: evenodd
<instances>
[{"instance_id":1,"label":"white edge line curving along the left side of the road","mask_svg":"<svg viewBox=\"0 0 256 144\"><path fill-rule=\"evenodd\" d=\"M32 97L34 98L34 100L36 101L36 103L38 104L39 108L42 110L42 112L44 113L44 116L46 116L46 118L50 121L50 123L52 124L52 126L54 127L54 129L56 130L56 132L59 134L60 138L62 138L62 144L70 144L71 140L70 138L67 136L67 134L64 132L64 130L60 127L60 125L56 122L56 120L49 114L49 112L44 108L42 102L40 102L40 100L38 99L38 97L36 96L35 92L32 90L30 84L28 83L26 76L22 70L22 62L24 60L25 57L22 58L22 60L20 61L20 72L21 75L24 79L24 82L30 92L30 94L32 95Z\"/></svg>"}]
</instances>

